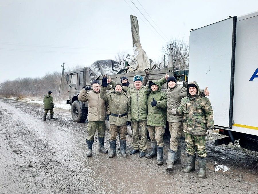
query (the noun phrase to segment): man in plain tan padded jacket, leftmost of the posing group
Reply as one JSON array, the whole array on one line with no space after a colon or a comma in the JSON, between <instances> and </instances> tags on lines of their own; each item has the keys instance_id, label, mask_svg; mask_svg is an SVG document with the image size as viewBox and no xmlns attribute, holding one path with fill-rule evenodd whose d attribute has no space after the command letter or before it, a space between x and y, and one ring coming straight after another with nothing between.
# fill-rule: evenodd
<instances>
[{"instance_id":1,"label":"man in plain tan padded jacket, leftmost of the posing group","mask_svg":"<svg viewBox=\"0 0 258 194\"><path fill-rule=\"evenodd\" d=\"M81 89L78 96L79 101L88 102L88 137L86 140L88 151L87 157L92 156L92 144L94 142L94 136L96 130L98 131L99 140L99 151L102 153L107 153L104 148L104 138L105 138L105 119L106 114L109 113L108 103L100 98L100 86L99 80L92 81L92 91L90 86Z\"/></svg>"}]
</instances>

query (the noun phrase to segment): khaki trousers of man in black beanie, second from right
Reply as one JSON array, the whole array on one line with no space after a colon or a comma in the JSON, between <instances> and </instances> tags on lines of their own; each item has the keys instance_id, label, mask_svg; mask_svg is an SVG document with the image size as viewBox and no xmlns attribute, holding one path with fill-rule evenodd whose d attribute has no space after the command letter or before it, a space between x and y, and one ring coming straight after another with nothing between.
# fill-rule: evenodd
<instances>
[{"instance_id":1,"label":"khaki trousers of man in black beanie, second from right","mask_svg":"<svg viewBox=\"0 0 258 194\"><path fill-rule=\"evenodd\" d=\"M183 122L169 122L170 145L169 148L177 152L177 147L180 145L180 137L183 130Z\"/></svg>"}]
</instances>

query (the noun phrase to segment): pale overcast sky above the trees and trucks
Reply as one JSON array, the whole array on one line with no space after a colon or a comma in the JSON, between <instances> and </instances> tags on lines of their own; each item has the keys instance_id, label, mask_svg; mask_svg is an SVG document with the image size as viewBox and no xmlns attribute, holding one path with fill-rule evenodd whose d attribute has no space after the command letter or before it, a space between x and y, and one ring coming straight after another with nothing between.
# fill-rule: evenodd
<instances>
[{"instance_id":1,"label":"pale overcast sky above the trees and trucks","mask_svg":"<svg viewBox=\"0 0 258 194\"><path fill-rule=\"evenodd\" d=\"M0 0L0 82L133 54L130 14L148 58L159 62L170 38L189 42L191 28L257 10L257 0Z\"/></svg>"}]
</instances>

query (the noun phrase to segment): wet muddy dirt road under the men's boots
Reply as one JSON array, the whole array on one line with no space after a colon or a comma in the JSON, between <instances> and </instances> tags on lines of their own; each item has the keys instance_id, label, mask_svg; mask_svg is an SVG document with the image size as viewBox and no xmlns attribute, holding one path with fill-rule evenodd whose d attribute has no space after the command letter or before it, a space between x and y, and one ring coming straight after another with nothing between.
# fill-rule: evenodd
<instances>
[{"instance_id":1,"label":"wet muddy dirt road under the men's boots","mask_svg":"<svg viewBox=\"0 0 258 194\"><path fill-rule=\"evenodd\" d=\"M122 158L118 150L108 158L98 152L96 136L87 158L87 123L73 122L68 110L55 108L55 120L48 113L43 121L42 114L40 104L0 98L0 193L258 193L258 153L238 145L216 147L218 134L207 140L207 178L199 179L196 171L182 172L183 139L182 164L168 173L156 158ZM110 149L108 139L106 131ZM128 152L132 139L127 139ZM165 160L168 149L167 135ZM228 170L215 172L218 165Z\"/></svg>"}]
</instances>

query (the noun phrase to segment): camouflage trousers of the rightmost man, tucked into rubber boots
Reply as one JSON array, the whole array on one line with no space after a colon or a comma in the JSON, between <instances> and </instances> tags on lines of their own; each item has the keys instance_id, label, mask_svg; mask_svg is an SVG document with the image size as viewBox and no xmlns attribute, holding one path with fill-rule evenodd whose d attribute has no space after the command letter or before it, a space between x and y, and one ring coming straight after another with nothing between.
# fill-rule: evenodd
<instances>
[{"instance_id":1,"label":"camouflage trousers of the rightmost man, tucked into rubber boots","mask_svg":"<svg viewBox=\"0 0 258 194\"><path fill-rule=\"evenodd\" d=\"M185 142L186 142L186 153L189 155L194 155L197 150L199 157L207 157L207 151L205 149L205 135L192 135L185 132Z\"/></svg>"}]
</instances>

